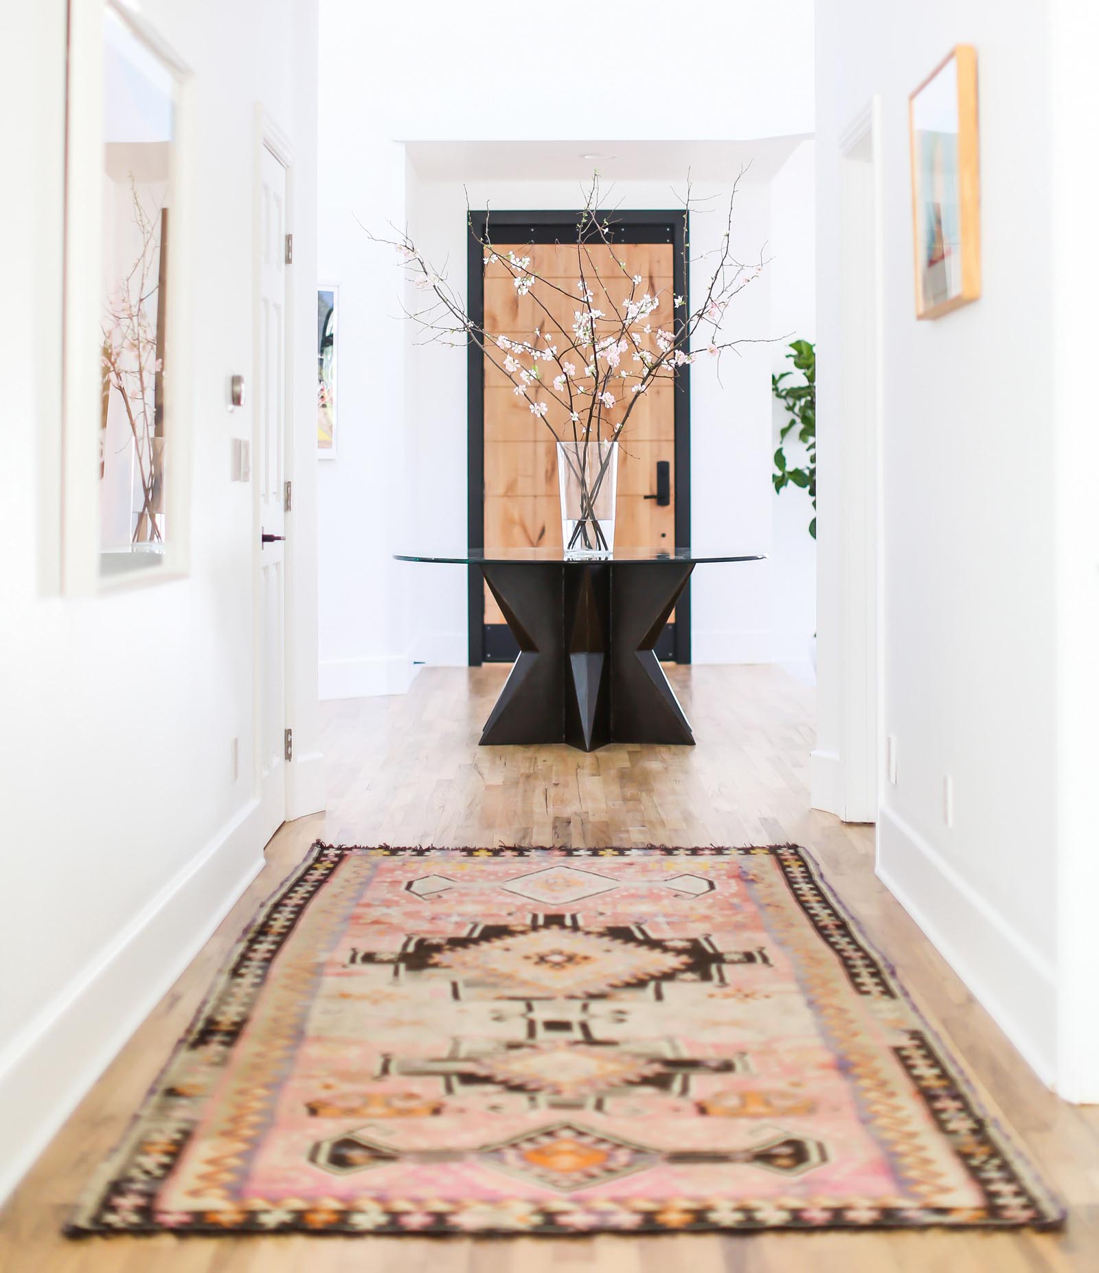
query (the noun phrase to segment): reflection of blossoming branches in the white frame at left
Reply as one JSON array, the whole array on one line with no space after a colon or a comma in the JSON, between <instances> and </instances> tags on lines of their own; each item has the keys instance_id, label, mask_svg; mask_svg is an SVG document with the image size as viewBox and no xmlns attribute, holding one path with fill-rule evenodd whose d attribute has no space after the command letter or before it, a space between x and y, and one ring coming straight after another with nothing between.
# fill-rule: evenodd
<instances>
[{"instance_id":1,"label":"reflection of blossoming branches in the white frame at left","mask_svg":"<svg viewBox=\"0 0 1099 1273\"><path fill-rule=\"evenodd\" d=\"M132 265L107 297L103 316L101 448L107 439L112 391L122 404L132 443L131 542L163 541L164 418L163 335L167 213L149 210L130 179L138 238ZM101 453L99 476L106 456Z\"/></svg>"}]
</instances>

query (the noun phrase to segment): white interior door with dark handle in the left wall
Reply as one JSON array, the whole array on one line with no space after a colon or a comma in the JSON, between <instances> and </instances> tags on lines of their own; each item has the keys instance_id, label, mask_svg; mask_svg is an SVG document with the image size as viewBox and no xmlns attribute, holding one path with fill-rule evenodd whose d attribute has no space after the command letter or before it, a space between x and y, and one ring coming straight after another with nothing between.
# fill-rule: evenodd
<instances>
[{"instance_id":1,"label":"white interior door with dark handle in the left wall","mask_svg":"<svg viewBox=\"0 0 1099 1273\"><path fill-rule=\"evenodd\" d=\"M267 838L285 819L287 169L264 146L260 173L256 463L260 510L260 798ZM276 536L269 538L269 536Z\"/></svg>"}]
</instances>

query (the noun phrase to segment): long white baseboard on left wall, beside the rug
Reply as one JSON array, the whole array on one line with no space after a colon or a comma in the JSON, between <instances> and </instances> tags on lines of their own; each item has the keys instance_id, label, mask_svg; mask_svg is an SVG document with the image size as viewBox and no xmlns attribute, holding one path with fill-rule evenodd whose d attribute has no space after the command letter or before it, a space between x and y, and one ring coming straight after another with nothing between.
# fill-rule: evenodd
<instances>
[{"instance_id":1,"label":"long white baseboard on left wall, beside the rug","mask_svg":"<svg viewBox=\"0 0 1099 1273\"><path fill-rule=\"evenodd\" d=\"M251 801L0 1055L0 1202L264 866Z\"/></svg>"}]
</instances>

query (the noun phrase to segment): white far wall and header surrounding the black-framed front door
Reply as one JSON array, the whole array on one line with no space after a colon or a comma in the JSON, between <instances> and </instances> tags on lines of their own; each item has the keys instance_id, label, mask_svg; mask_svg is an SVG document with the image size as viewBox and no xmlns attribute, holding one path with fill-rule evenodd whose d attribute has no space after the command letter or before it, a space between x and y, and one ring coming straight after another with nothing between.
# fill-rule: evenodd
<instances>
[{"instance_id":1,"label":"white far wall and header surrounding the black-framed front door","mask_svg":"<svg viewBox=\"0 0 1099 1273\"><path fill-rule=\"evenodd\" d=\"M441 255L448 248L450 267L464 283L460 185L422 179L406 168L401 143L576 139L576 151L613 150L613 143L595 141L592 120L604 136L627 144L772 137L812 129L810 0L782 13L763 0L697 6L693 22L705 38L689 46L690 94L666 92L671 70L653 66L655 55L643 43L634 48L627 41L623 62L635 67L647 87L635 108L625 109L621 85L602 75L592 76L583 95L555 94L551 103L546 97L545 108L508 108L503 85L511 76L536 85L537 73L503 69L498 46L483 38L460 6L422 8L427 20L418 27L414 51L405 56L409 45L400 10L321 0L320 260L322 276L341 283L344 306L340 456L321 465L318 477L322 696L399 691L411 676L411 659L466 657L464 573L388 560L410 540L453 536L453 542L465 542L465 356L453 351L447 359L433 350L430 373L424 372L422 355L410 353L410 334L397 322L402 297L392 253L372 246L355 220L381 229L388 222L416 229L413 223L419 220L419 238L432 255L437 246ZM590 6L579 0L571 0L567 10L576 20L592 20ZM652 0L635 8L637 22L643 23L647 13L661 22L666 18ZM557 14L571 20L560 9ZM371 75L363 75L365 47L395 55L373 62ZM779 78L777 66L784 69ZM493 88L486 94L479 85ZM500 107L486 108L497 98ZM658 108L651 109L651 102ZM615 197L630 185L621 182ZM577 186L470 181L474 205L489 197L498 207L574 206ZM667 183L658 188L638 183L625 197L627 205L643 197L667 206ZM742 215L745 242L758 251L768 237L765 187L745 192ZM769 334L769 286L763 281L746 302L748 335ZM711 368L699 363L694 369L694 537L750 540L753 549L767 551L770 358L756 349L736 367L735 362L722 362L723 395L712 384ZM737 404L736 410L730 402ZM400 476L405 472L408 485ZM694 597L699 661L770 657L768 566L700 568Z\"/></svg>"}]
</instances>

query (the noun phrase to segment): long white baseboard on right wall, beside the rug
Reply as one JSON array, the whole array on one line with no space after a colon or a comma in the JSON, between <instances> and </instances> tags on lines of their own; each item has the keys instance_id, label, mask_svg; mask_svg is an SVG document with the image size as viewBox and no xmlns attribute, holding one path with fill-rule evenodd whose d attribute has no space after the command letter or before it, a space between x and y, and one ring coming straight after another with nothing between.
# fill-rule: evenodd
<instances>
[{"instance_id":1,"label":"long white baseboard on right wall, beside the rug","mask_svg":"<svg viewBox=\"0 0 1099 1273\"><path fill-rule=\"evenodd\" d=\"M877 819L877 877L1052 1087L1057 1073L1053 962L888 808Z\"/></svg>"}]
</instances>

